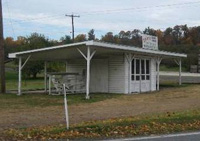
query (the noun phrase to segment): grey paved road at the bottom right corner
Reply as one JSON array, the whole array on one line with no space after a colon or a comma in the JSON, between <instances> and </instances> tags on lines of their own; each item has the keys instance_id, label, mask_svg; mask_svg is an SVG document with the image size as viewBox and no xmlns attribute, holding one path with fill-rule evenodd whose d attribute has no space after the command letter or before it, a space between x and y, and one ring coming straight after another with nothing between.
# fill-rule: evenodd
<instances>
[{"instance_id":1,"label":"grey paved road at the bottom right corner","mask_svg":"<svg viewBox=\"0 0 200 141\"><path fill-rule=\"evenodd\" d=\"M107 141L199 141L199 140L200 140L200 132L193 132L193 133L170 134L162 136L115 139Z\"/></svg>"}]
</instances>

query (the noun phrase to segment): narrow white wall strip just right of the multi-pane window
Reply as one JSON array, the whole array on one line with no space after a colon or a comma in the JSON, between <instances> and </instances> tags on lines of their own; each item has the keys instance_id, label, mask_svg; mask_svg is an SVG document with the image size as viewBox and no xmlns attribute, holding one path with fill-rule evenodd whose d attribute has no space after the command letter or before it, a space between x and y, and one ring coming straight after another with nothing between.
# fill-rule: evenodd
<instances>
[{"instance_id":1,"label":"narrow white wall strip just right of the multi-pane window","mask_svg":"<svg viewBox=\"0 0 200 141\"><path fill-rule=\"evenodd\" d=\"M151 59L151 90L156 91L156 59Z\"/></svg>"}]
</instances>

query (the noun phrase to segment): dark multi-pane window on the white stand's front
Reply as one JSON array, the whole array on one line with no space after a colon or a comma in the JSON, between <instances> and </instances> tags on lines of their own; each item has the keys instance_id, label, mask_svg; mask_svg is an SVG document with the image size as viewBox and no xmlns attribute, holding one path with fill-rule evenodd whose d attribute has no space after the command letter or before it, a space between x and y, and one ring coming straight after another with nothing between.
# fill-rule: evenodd
<instances>
[{"instance_id":1,"label":"dark multi-pane window on the white stand's front","mask_svg":"<svg viewBox=\"0 0 200 141\"><path fill-rule=\"evenodd\" d=\"M131 73L132 80L150 80L150 60L133 59Z\"/></svg>"}]
</instances>

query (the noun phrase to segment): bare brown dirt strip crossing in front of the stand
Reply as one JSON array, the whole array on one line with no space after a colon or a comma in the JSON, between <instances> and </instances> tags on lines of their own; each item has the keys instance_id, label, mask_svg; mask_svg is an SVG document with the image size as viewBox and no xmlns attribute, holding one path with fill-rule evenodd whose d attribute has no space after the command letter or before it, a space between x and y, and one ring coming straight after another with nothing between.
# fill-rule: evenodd
<instances>
[{"instance_id":1,"label":"bare brown dirt strip crossing in front of the stand","mask_svg":"<svg viewBox=\"0 0 200 141\"><path fill-rule=\"evenodd\" d=\"M200 108L200 85L160 92L124 95L95 103L69 106L70 124L141 114ZM49 106L0 111L0 129L65 124L64 107Z\"/></svg>"}]
</instances>

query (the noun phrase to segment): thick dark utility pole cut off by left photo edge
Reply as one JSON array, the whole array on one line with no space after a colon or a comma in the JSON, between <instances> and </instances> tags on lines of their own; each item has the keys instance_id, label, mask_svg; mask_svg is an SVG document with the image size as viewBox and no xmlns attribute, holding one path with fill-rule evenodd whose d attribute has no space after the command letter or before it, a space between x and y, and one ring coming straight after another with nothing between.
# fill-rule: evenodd
<instances>
[{"instance_id":1,"label":"thick dark utility pole cut off by left photo edge","mask_svg":"<svg viewBox=\"0 0 200 141\"><path fill-rule=\"evenodd\" d=\"M2 0L0 0L0 77L1 77L1 93L6 92L5 85L5 64L4 58L4 39L3 39L3 14L2 14Z\"/></svg>"}]
</instances>

